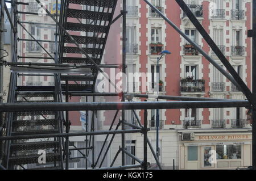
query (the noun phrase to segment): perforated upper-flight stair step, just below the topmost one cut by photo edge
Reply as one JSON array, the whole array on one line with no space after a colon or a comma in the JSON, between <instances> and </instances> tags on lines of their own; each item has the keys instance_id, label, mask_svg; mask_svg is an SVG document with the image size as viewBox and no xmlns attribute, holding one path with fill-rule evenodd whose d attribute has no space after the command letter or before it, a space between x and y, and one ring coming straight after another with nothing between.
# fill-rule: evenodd
<instances>
[{"instance_id":1,"label":"perforated upper-flight stair step, just below the topmost one cut by photo edge","mask_svg":"<svg viewBox=\"0 0 256 181\"><path fill-rule=\"evenodd\" d=\"M79 18L79 19L90 19L90 20L102 20L110 21L112 14L108 12L96 12L96 11L86 11L86 10L77 10L77 9L68 9L67 10L68 18Z\"/></svg>"}]
</instances>

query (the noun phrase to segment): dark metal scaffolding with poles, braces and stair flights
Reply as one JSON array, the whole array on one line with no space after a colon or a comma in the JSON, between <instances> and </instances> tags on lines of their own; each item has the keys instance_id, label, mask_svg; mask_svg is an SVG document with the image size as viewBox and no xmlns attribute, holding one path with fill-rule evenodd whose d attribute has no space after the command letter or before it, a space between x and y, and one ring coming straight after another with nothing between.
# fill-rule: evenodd
<instances>
[{"instance_id":1,"label":"dark metal scaffolding with poles, braces and stair flights","mask_svg":"<svg viewBox=\"0 0 256 181\"><path fill-rule=\"evenodd\" d=\"M6 7L6 2L11 3L11 12ZM46 162L51 163L51 167L40 167L38 169L69 169L69 162L72 159L85 159L86 169L88 169L88 163L92 169L135 169L141 168L143 170L148 169L147 162L147 145L149 146L155 161L159 167L160 165L158 155L155 153L150 140L147 137L148 121L147 110L149 109L180 109L180 108L220 108L220 107L245 107L253 113L253 169L256 169L256 72L253 71L253 92L245 85L237 72L230 65L221 50L217 47L214 41L210 38L208 33L201 26L199 20L184 3L183 0L176 0L177 4L181 7L189 20L193 23L196 29L207 41L210 48L220 59L222 64L228 70L224 70L220 65L216 63L203 49L194 43L188 36L185 35L174 23L171 22L159 9L152 5L147 0L144 0L148 6L151 7L160 17L162 17L172 28L174 28L181 36L184 37L189 43L191 43L199 52L215 66L226 78L229 79L239 90L243 92L247 100L230 100L230 99L210 99L210 98L191 98L183 96L155 96L155 99L165 100L179 100L176 102L131 102L131 97L148 98L146 94L130 94L122 92L115 88L117 93L99 93L95 92L96 79L98 73L102 73L105 78L108 76L105 74L102 68L115 68L122 69L122 73L126 73L126 0L122 0L122 11L114 18L115 7L117 0L56 0L55 14L51 14L46 6L39 0L35 0L37 5L40 5L48 17L50 17L53 24L49 23L32 23L22 22L18 19L19 14L32 14L38 15L38 12L23 12L19 11L18 6L28 6L29 3L19 2L17 0L1 1L1 44L0 44L0 93L3 92L3 66L10 66L11 77L9 86L9 95L7 103L3 103L1 99L0 103L0 158L3 159L0 164L0 169L16 169L18 166L26 169L23 165L38 162L38 154L22 155L23 151L28 150L40 150L47 149L49 153L46 153ZM72 9L69 7L69 3L84 6L84 9ZM36 5L36 6L37 6ZM60 11L58 10L60 5ZM11 24L12 40L11 40L11 56L12 61L6 62L3 60L3 32L4 32L4 16L5 13ZM60 14L59 14L60 12ZM253 39L253 70L256 69L256 0L253 0L253 30L248 32L248 36ZM75 18L80 23L72 23L68 21L68 18ZM122 64L118 65L103 65L101 64L103 52L106 45L106 40L110 31L110 26L119 18L122 18ZM80 20L82 19L82 20ZM24 24L40 24L46 27L55 28L55 41L38 40L32 33L26 29ZM22 28L30 36L30 39L18 39L18 30ZM84 32L85 36L71 35L69 31ZM90 32L90 33L89 33ZM89 36L91 35L92 36ZM19 44L18 41L28 41L35 43L37 48L42 48L48 57L18 57ZM42 42L53 43L54 55L51 54L42 46ZM66 45L65 45L66 44ZM73 44L75 46L68 46L67 44ZM80 45L83 44L84 47ZM67 57L65 53L82 54L84 57ZM19 62L19 58L46 58L53 60L54 63L34 63L34 62ZM29 73L27 73L29 72ZM54 77L54 84L52 86L17 86L17 77L22 76L35 76L30 73L44 73L36 76L51 76ZM228 73L229 72L229 73ZM66 75L67 74L67 75ZM69 75L79 74L79 75ZM83 75L81 75L83 74ZM61 81L65 81L65 84L61 84ZM84 81L85 84L71 84L70 82ZM115 87L115 84L108 78L111 85ZM126 85L126 82L122 82ZM65 96L65 102L63 100ZM71 103L69 102L69 96L86 96L86 102ZM96 96L119 96L121 102L95 102ZM92 97L92 102L88 102L88 97ZM28 100L27 98L49 98L47 100ZM126 101L128 100L128 101ZM95 123L97 120L96 112L100 110L115 110L112 123L108 131L96 131ZM126 121L125 110L131 110L134 113L137 124L131 124ZM135 110L143 110L144 120L143 125L139 116ZM69 132L71 121L69 120L69 111L86 111L86 120L88 120L88 111L92 111L92 119L90 120L90 128L86 124L85 132ZM119 120L115 129L114 123L117 119L118 113L121 111L122 119ZM3 121L3 113L5 113L5 121ZM30 119L24 119L24 117L30 117ZM43 117L43 119L34 119L34 116ZM49 118L49 117L50 118ZM156 123L159 125L158 123ZM38 127L48 126L52 129L35 129L28 131L20 131L20 127L30 127L36 125ZM132 129L126 129L126 126ZM121 127L121 129L118 129ZM65 128L65 130L64 130ZM5 131L5 132L4 132ZM129 151L126 150L126 135L130 133L142 133L143 134L143 160L135 157ZM102 163L106 158L106 154L109 151L110 146L114 140L116 134L121 134L121 145L110 167L102 167ZM104 144L100 150L99 155L94 153L94 136L106 135ZM86 146L85 148L77 148L72 145L69 137L85 136ZM111 137L109 144L106 141ZM20 140L33 140L33 139L46 139L43 141L30 141L22 142ZM89 141L88 141L89 140ZM73 146L74 148L69 148ZM104 153L104 146L107 149ZM77 150L82 157L71 158L70 151ZM82 153L81 150L86 150L86 153ZM31 152L35 153L35 152ZM92 159L89 159L89 154L92 154ZM103 158L101 155L104 154ZM118 155L121 154L121 166L113 167ZM125 162L125 155L133 158L138 164L127 165Z\"/></svg>"}]
</instances>

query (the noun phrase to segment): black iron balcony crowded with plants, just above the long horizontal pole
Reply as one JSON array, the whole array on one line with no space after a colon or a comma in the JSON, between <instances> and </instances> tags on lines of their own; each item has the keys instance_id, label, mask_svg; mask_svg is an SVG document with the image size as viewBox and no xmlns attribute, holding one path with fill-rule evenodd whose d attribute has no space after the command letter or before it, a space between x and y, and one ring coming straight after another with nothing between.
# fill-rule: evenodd
<instances>
[{"instance_id":1,"label":"black iron balcony crowded with plants, just above the long horizontal pole","mask_svg":"<svg viewBox=\"0 0 256 181\"><path fill-rule=\"evenodd\" d=\"M204 92L204 79L193 80L191 77L183 78L180 81L181 92Z\"/></svg>"}]
</instances>

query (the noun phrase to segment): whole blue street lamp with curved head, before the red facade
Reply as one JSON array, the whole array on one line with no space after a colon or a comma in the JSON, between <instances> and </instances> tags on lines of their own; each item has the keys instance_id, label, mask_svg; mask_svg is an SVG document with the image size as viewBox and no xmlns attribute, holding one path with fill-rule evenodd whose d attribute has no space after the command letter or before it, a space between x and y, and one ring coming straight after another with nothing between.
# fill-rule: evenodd
<instances>
[{"instance_id":1,"label":"whole blue street lamp with curved head, before the red facade","mask_svg":"<svg viewBox=\"0 0 256 181\"><path fill-rule=\"evenodd\" d=\"M157 95L159 95L159 61L161 60L161 58L163 56L165 56L166 54L171 54L171 52L169 52L168 50L163 50L163 52L161 52L161 57L158 57L158 64L156 65L156 78L158 80L158 84L156 86L157 89ZM157 98L158 101L158 98ZM156 156L158 157L159 160L159 109L156 110Z\"/></svg>"}]
</instances>

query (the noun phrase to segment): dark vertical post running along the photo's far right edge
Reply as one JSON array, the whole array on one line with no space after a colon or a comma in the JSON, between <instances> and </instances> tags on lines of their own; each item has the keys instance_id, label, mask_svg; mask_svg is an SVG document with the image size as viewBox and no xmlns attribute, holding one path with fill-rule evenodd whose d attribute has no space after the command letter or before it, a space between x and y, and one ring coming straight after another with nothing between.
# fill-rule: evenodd
<instances>
[{"instance_id":1,"label":"dark vertical post running along the photo's far right edge","mask_svg":"<svg viewBox=\"0 0 256 181\"><path fill-rule=\"evenodd\" d=\"M253 0L253 169L256 170L256 0Z\"/></svg>"}]
</instances>

